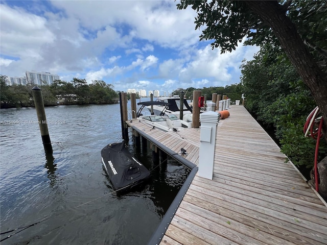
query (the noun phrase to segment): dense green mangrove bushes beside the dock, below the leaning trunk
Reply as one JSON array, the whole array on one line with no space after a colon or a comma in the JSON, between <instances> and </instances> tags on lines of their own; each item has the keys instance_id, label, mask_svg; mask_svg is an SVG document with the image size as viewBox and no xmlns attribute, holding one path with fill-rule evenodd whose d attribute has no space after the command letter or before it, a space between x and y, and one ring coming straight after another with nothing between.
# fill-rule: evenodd
<instances>
[{"instance_id":1,"label":"dense green mangrove bushes beside the dock, below the leaning trunk","mask_svg":"<svg viewBox=\"0 0 327 245\"><path fill-rule=\"evenodd\" d=\"M295 165L312 167L315 141L304 137L303 125L316 105L288 58L266 44L254 60L244 61L241 68L246 108L264 125L275 129L281 151ZM326 152L326 142L321 140L319 159Z\"/></svg>"}]
</instances>

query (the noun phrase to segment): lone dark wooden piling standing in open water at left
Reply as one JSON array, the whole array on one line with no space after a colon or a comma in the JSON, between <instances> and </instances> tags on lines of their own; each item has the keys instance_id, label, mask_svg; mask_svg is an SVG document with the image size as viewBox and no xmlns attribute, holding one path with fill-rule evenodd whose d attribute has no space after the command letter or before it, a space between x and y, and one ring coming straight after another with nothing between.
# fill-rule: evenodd
<instances>
[{"instance_id":1,"label":"lone dark wooden piling standing in open water at left","mask_svg":"<svg viewBox=\"0 0 327 245\"><path fill-rule=\"evenodd\" d=\"M32 93L33 93L37 119L39 121L39 127L41 131L41 138L43 142L44 151L45 153L52 153L53 150L52 150L51 140L49 136L48 123L46 121L46 116L45 116L42 90L39 87L34 86L32 88Z\"/></svg>"}]
</instances>

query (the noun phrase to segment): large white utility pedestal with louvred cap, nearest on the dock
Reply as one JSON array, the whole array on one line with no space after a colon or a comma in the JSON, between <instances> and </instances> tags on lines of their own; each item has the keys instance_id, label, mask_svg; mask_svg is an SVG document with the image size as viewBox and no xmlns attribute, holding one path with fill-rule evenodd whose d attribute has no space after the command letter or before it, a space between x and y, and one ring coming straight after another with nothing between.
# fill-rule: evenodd
<instances>
[{"instance_id":1,"label":"large white utility pedestal with louvred cap, nearest on the dock","mask_svg":"<svg viewBox=\"0 0 327 245\"><path fill-rule=\"evenodd\" d=\"M214 173L216 131L219 113L203 112L200 115L200 149L199 149L199 177L212 180Z\"/></svg>"}]
</instances>

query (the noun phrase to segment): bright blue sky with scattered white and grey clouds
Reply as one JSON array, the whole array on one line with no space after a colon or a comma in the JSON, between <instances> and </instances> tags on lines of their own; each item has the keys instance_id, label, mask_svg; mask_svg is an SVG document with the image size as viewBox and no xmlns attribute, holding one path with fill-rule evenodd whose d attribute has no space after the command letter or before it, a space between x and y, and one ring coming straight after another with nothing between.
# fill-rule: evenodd
<instances>
[{"instance_id":1,"label":"bright blue sky with scattered white and grey clouds","mask_svg":"<svg viewBox=\"0 0 327 245\"><path fill-rule=\"evenodd\" d=\"M242 60L199 41L196 12L179 1L1 1L0 73L51 72L70 82L103 80L114 90L219 87L240 82ZM244 41L244 40L243 40Z\"/></svg>"}]
</instances>

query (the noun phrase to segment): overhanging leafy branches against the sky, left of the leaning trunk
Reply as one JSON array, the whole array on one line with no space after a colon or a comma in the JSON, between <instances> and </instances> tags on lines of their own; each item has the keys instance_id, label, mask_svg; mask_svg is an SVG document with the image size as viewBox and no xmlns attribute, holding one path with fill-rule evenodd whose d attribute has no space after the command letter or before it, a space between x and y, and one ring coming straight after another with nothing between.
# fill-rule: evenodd
<instances>
[{"instance_id":1,"label":"overhanging leafy branches against the sky, left of the leaning trunk","mask_svg":"<svg viewBox=\"0 0 327 245\"><path fill-rule=\"evenodd\" d=\"M213 39L212 48L221 47L221 53L235 50L245 36L255 35L261 22L243 1L189 1L182 0L177 9L192 5L198 16L195 29L204 26L200 40Z\"/></svg>"}]
</instances>

